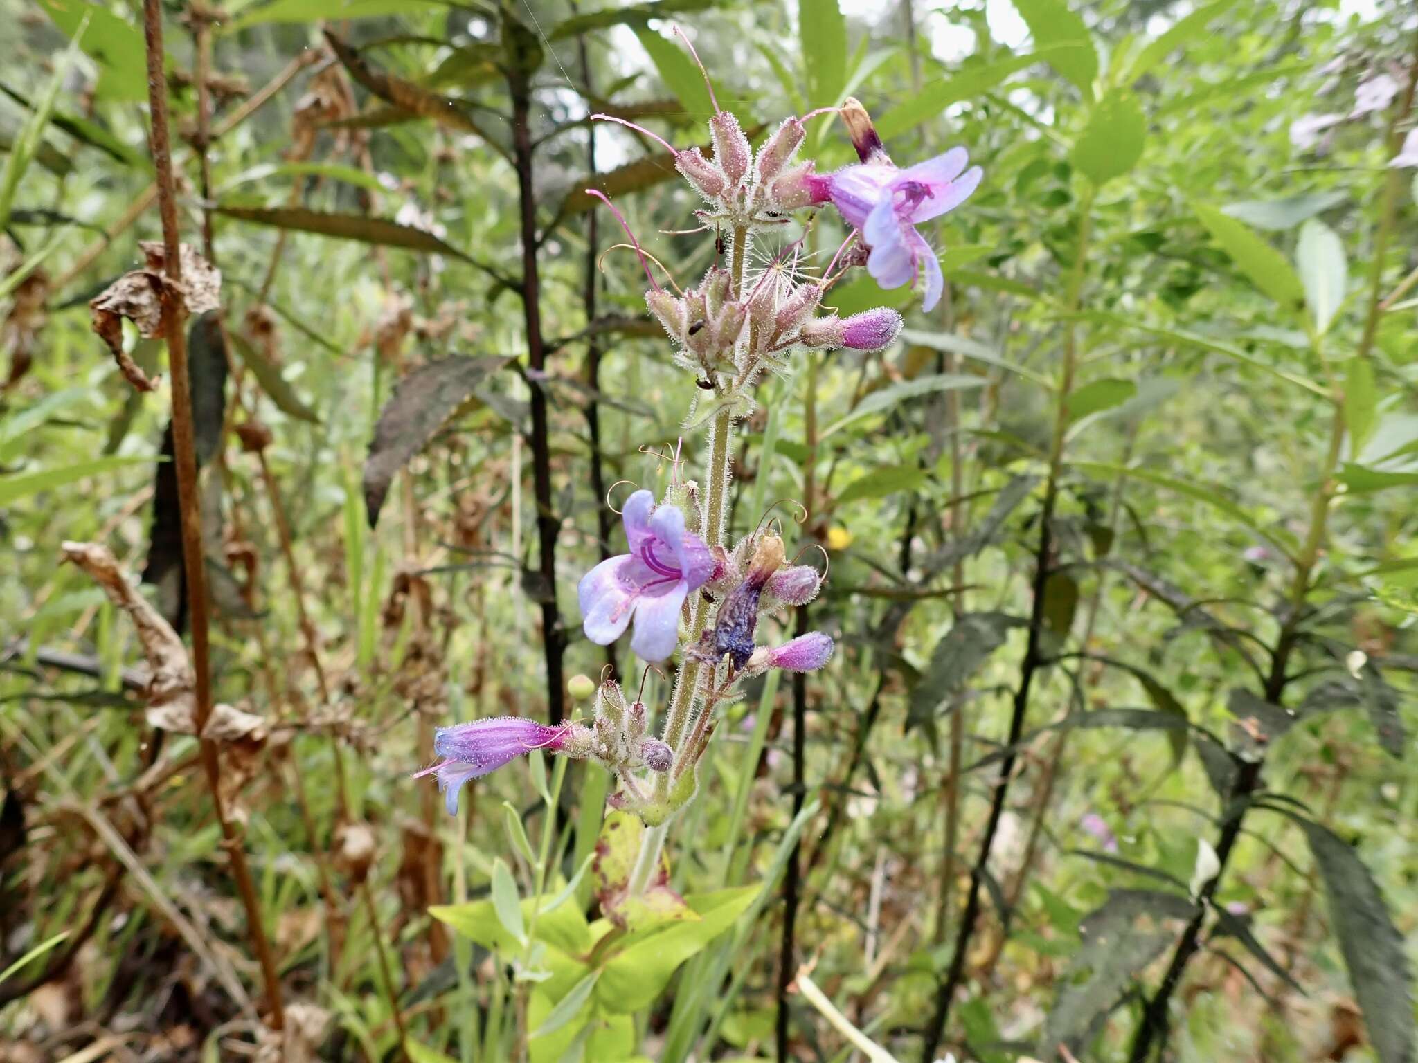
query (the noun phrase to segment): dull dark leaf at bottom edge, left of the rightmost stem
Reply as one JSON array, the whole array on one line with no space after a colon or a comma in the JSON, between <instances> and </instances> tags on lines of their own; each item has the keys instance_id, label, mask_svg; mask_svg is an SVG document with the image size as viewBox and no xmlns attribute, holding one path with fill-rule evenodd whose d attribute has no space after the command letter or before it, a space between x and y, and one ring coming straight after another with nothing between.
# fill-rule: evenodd
<instances>
[{"instance_id":1,"label":"dull dark leaf at bottom edge, left of the rightmost stem","mask_svg":"<svg viewBox=\"0 0 1418 1063\"><path fill-rule=\"evenodd\" d=\"M1133 977L1176 938L1168 920L1190 920L1197 904L1159 890L1112 890L1100 909L1079 924L1083 947L1072 972L1086 971L1068 985L1044 1023L1044 1059L1058 1059L1061 1045L1082 1054L1096 1025Z\"/></svg>"}]
</instances>

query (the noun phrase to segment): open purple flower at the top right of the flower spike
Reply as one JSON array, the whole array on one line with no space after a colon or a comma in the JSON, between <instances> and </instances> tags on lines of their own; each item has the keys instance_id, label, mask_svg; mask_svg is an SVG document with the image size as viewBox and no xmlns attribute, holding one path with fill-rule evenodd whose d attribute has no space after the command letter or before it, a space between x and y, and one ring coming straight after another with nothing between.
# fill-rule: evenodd
<instances>
[{"instance_id":1,"label":"open purple flower at the top right of the flower spike","mask_svg":"<svg viewBox=\"0 0 1418 1063\"><path fill-rule=\"evenodd\" d=\"M916 225L959 207L980 184L978 166L966 170L970 156L953 147L905 170L881 162L848 166L825 177L810 177L814 198L831 200L848 225L859 228L872 249L866 272L882 288L920 281L922 309L940 302L944 278L940 262Z\"/></svg>"}]
</instances>

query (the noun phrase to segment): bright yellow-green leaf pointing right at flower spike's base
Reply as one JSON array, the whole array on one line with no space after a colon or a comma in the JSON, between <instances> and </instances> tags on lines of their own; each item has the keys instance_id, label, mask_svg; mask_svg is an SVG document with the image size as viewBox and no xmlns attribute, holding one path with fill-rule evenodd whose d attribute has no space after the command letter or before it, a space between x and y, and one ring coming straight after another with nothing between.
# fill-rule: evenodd
<instances>
[{"instance_id":1,"label":"bright yellow-green leaf pointing right at flower spike's base","mask_svg":"<svg viewBox=\"0 0 1418 1063\"><path fill-rule=\"evenodd\" d=\"M675 969L699 952L753 903L757 886L736 886L685 897L699 918L661 924L611 958L596 985L596 999L611 1015L627 1015L654 1001Z\"/></svg>"}]
</instances>

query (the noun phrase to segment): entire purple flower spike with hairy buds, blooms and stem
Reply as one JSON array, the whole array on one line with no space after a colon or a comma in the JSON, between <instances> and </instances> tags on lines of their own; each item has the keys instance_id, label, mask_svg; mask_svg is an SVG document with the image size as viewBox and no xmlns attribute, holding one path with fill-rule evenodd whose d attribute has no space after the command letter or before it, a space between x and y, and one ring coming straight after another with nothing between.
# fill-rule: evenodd
<instances>
[{"instance_id":1,"label":"entire purple flower spike with hairy buds, blooms and stem","mask_svg":"<svg viewBox=\"0 0 1418 1063\"><path fill-rule=\"evenodd\" d=\"M712 85L709 91L712 96ZM718 234L720 259L688 291L661 288L624 217L604 196L591 193L630 234L649 281L647 306L674 342L675 363L695 374L696 397L686 429L700 424L709 429L705 486L681 478L676 452L665 496L657 503L649 490L637 490L627 499L621 512L625 553L586 573L577 600L591 642L610 645L631 629L630 648L649 662L647 668L678 651L678 676L662 714L662 738L649 736L649 713L640 696L627 699L614 679L597 687L588 726L495 719L440 729L435 748L441 761L418 774L437 775L450 812L457 811L458 791L469 778L545 748L604 764L621 780L611 804L658 826L692 799L718 710L742 696L743 680L769 669L813 672L832 656L832 639L824 632L760 643L759 621L810 602L824 575L813 566L790 563L771 523L727 544L735 425L752 411L757 377L763 370L788 369L794 349L875 351L895 342L902 317L893 309L848 317L821 310L824 295L851 269L865 266L885 286L915 283L923 292L923 308L934 306L943 278L917 225L963 203L978 186L980 169L966 169L963 149L898 169L861 103L848 99L828 111L841 115L861 159L831 174L818 174L814 163L797 160L804 122L824 112L787 119L754 154L737 119L715 101L712 159L699 149L679 150L661 142L705 200L705 208L696 211L702 228ZM630 125L605 115L593 118ZM849 230L824 271L811 276L803 271L801 238L766 266L750 268L756 235L790 224L794 211L818 204L835 207ZM642 852L637 867L658 866L659 838L647 833L647 845L657 848L648 859ZM644 883L632 882L631 892L637 887Z\"/></svg>"}]
</instances>

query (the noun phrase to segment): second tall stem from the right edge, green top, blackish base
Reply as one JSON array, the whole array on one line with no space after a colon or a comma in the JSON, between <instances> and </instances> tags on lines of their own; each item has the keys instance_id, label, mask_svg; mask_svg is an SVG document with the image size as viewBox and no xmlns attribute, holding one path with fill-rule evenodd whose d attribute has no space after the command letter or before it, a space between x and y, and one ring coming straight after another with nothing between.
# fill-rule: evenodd
<instances>
[{"instance_id":1,"label":"second tall stem from the right edge, green top, blackish base","mask_svg":"<svg viewBox=\"0 0 1418 1063\"><path fill-rule=\"evenodd\" d=\"M1088 245L1093 230L1093 189L1079 201L1078 220L1078 248L1075 251L1073 269L1069 275L1068 291L1064 299L1065 308L1073 312L1079 306L1079 296L1083 291L1083 276L1088 264ZM1020 663L1020 686L1014 693L1014 707L1010 714L1010 734L1005 738L1005 754L1000 764L1000 774L994 784L994 797L990 802L990 818L986 821L984 836L980 842L980 853L976 857L970 873L970 890L966 894L966 907L960 916L960 927L956 931L956 948L950 957L950 968L944 981L936 991L936 1011L930 1018L930 1025L925 1032L925 1049L922 1060L932 1063L936 1059L936 1049L940 1045L946 1022L950 1019L950 1005L954 1002L956 991L964 978L966 960L970 952L970 938L974 935L976 923L980 918L980 886L988 873L990 850L994 848L995 835L1000 831L1000 819L1004 815L1004 804L1010 791L1010 781L1014 777L1014 765L1018 760L1020 736L1024 733L1024 719L1029 712L1029 693L1034 689L1034 677L1045 663L1041 646L1044 631L1044 592L1046 590L1051 561L1054 557L1054 510L1058 505L1059 479L1064 472L1064 442L1066 439L1069 422L1069 394L1073 390L1073 376L1078 369L1078 326L1069 323L1064 334L1064 369L1058 386L1058 407L1054 414L1054 439L1049 446L1049 475L1044 489L1044 506L1039 510L1039 546L1034 556L1034 602L1029 608L1029 634L1024 649L1024 660Z\"/></svg>"}]
</instances>

